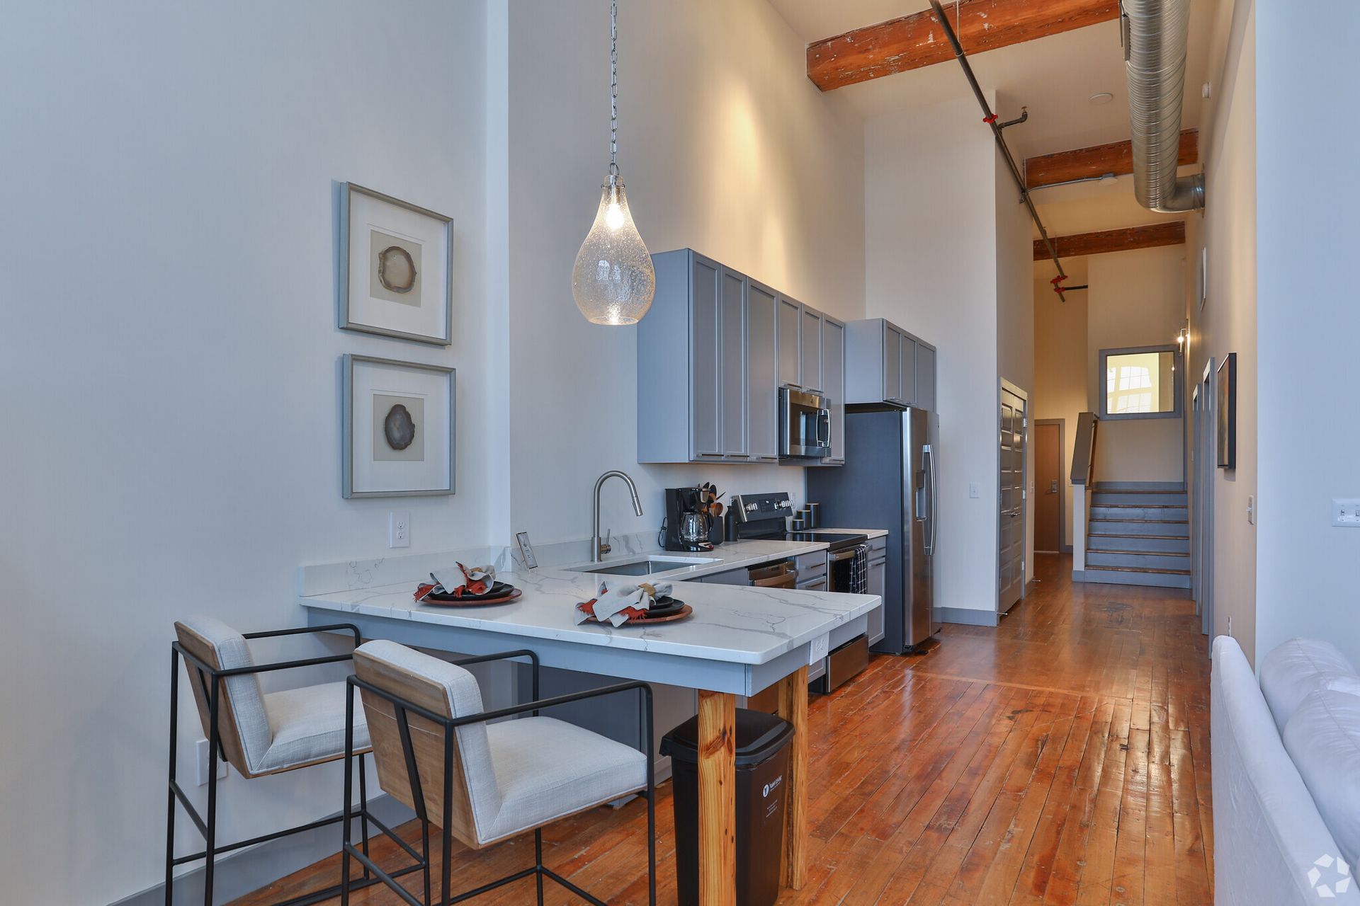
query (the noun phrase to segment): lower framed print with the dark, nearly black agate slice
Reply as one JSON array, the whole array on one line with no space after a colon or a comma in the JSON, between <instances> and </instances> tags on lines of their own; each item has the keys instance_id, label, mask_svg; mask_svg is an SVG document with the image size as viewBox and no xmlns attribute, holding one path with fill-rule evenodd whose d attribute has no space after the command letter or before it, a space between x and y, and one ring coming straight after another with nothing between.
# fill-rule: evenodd
<instances>
[{"instance_id":1,"label":"lower framed print with the dark, nearly black agate slice","mask_svg":"<svg viewBox=\"0 0 1360 906\"><path fill-rule=\"evenodd\" d=\"M341 363L343 494L454 492L454 369L347 355Z\"/></svg>"}]
</instances>

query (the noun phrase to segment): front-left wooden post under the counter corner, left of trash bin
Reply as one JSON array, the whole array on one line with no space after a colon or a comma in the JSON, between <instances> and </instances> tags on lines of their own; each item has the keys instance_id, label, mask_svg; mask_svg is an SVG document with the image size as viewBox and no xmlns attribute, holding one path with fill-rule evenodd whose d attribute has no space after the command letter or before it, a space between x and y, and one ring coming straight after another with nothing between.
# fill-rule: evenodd
<instances>
[{"instance_id":1,"label":"front-left wooden post under the counter corner, left of trash bin","mask_svg":"<svg viewBox=\"0 0 1360 906\"><path fill-rule=\"evenodd\" d=\"M737 700L699 690L699 906L737 903Z\"/></svg>"}]
</instances>

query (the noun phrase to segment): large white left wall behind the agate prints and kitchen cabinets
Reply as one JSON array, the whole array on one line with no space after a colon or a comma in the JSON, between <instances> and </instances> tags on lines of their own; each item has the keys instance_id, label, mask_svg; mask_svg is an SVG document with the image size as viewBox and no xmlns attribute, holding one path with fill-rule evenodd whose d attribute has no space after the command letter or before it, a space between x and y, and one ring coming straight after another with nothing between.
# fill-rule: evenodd
<instances>
[{"instance_id":1,"label":"large white left wall behind the agate prints and kitchen cabinets","mask_svg":"<svg viewBox=\"0 0 1360 906\"><path fill-rule=\"evenodd\" d=\"M801 496L798 469L635 465L634 331L586 325L568 277L608 163L605 0L398 12L35 5L0 35L0 149L22 174L0 221L0 418L24 427L0 432L0 713L24 728L0 759L23 831L0 848L7 901L159 882L177 617L302 622L296 566L381 553L394 507L420 551L583 538L609 467L647 509L611 489L616 532L656 530L660 488L700 475ZM783 19L650 0L620 11L620 164L651 249L862 316L861 128L806 81ZM336 330L344 181L454 217L450 349ZM458 368L456 496L340 499L344 352ZM189 705L190 786L196 724ZM233 777L222 837L335 811L339 777Z\"/></svg>"}]
</instances>

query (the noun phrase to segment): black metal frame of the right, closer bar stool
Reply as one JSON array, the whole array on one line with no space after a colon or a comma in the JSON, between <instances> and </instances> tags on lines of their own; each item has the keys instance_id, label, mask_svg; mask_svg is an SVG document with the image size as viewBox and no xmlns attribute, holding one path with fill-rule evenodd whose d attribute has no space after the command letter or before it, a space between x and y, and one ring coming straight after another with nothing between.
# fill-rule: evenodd
<instances>
[{"instance_id":1,"label":"black metal frame of the right, closer bar stool","mask_svg":"<svg viewBox=\"0 0 1360 906\"><path fill-rule=\"evenodd\" d=\"M511 875L506 875L499 880L494 880L488 884L483 884L476 890L469 890L457 895L450 895L450 887L453 882L453 834L449 830L449 825L453 820L453 800L449 796L449 791L453 789L453 731L458 727L465 727L468 724L484 723L488 720L496 720L499 717L511 717L515 714L522 714L525 712L532 712L537 714L540 710L547 708L555 708L556 705L566 705L568 702L581 701L585 698L597 698L600 695L613 695L617 693L626 693L631 690L638 690L642 698L643 706L643 739L641 740L639 748L647 758L647 785L645 792L638 795L647 800L647 902L650 906L657 903L657 784L656 784L656 770L653 762L653 727L651 727L651 686L645 682L635 681L627 683L615 683L612 686L601 686L600 689L590 689L581 693L573 693L568 695L556 695L554 698L539 698L539 656L532 651L507 651L499 655L483 655L480 657L464 657L461 660L450 662L456 666L466 664L480 664L494 660L507 660L511 657L528 657L533 666L533 701L524 702L522 705L513 705L510 708L499 708L496 710L481 712L480 714L469 714L466 717L445 717L443 714L437 714L431 710L405 701L398 695L389 691L378 689L377 686L367 683L358 676L350 676L350 694L345 697L345 762L344 762L344 814L341 819L344 822L344 842L340 856L340 906L350 906L350 890L355 887L350 883L350 858L355 858L363 865L366 872L373 872L378 880L385 883L394 894L397 894L403 901L411 906L432 906L430 901L431 887L430 887L430 816L426 812L424 795L420 785L420 772L416 767L415 748L411 744L411 714L424 717L426 720L439 724L443 727L443 815L439 825L441 830L441 850L443 857L442 864L442 891L443 896L438 901L438 906L452 906L452 903L461 903L465 899L472 899L473 896L480 896L481 894L490 892L498 887L503 887L521 877L528 877L530 875L537 876L539 882L539 906L543 906L543 879L551 877L562 887L570 890L577 896L581 896L594 906L608 906L604 901L592 896L586 891L581 890L571 882L568 882L562 875L556 873L551 868L543 864L543 829L536 827L533 831L533 850L534 850L534 864L529 868L524 868ZM397 883L396 877L405 873L408 869L388 873L378 868L373 860L369 857L367 846L363 852L359 850L350 841L350 819L351 815L351 795L352 795L352 778L351 778L351 765L352 761L348 755L354 751L354 693L355 689L363 689L374 695L385 698L392 702L396 721L397 732L401 736L401 753L407 762L407 776L411 778L411 801L416 804L416 818L420 819L420 844L422 852L418 853L415 848L409 846L404 839L397 837L392 830L385 827L381 822L367 815L367 820L371 820L378 830L386 834L394 844L407 852L408 856L418 860L418 868L424 869L424 902L416 899L411 891ZM369 810L369 801L359 792L359 816L363 818Z\"/></svg>"}]
</instances>

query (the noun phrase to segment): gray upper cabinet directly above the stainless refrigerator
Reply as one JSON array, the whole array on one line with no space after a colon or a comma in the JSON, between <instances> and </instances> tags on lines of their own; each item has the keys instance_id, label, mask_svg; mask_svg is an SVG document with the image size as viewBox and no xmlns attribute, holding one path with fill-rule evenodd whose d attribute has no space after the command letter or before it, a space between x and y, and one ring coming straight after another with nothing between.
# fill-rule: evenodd
<instances>
[{"instance_id":1,"label":"gray upper cabinet directly above the stainless refrigerator","mask_svg":"<svg viewBox=\"0 0 1360 906\"><path fill-rule=\"evenodd\" d=\"M883 318L846 325L846 402L934 409L934 346Z\"/></svg>"}]
</instances>

